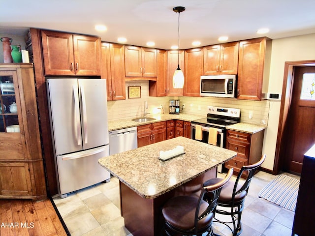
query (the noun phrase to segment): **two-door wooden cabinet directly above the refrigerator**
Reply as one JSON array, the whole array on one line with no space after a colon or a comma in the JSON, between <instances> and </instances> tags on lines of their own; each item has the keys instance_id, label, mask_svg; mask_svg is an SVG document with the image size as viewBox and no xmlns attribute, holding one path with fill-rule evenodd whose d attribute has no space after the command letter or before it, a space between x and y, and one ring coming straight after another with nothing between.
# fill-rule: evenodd
<instances>
[{"instance_id":1,"label":"two-door wooden cabinet directly above the refrigerator","mask_svg":"<svg viewBox=\"0 0 315 236\"><path fill-rule=\"evenodd\" d=\"M99 37L42 30L45 75L101 74Z\"/></svg>"}]
</instances>

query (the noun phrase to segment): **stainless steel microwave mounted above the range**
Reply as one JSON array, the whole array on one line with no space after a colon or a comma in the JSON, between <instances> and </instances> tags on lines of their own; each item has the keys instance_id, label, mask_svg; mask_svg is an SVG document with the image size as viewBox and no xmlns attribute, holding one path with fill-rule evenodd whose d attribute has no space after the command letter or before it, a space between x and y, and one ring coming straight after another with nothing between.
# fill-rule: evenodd
<instances>
[{"instance_id":1,"label":"stainless steel microwave mounted above the range","mask_svg":"<svg viewBox=\"0 0 315 236\"><path fill-rule=\"evenodd\" d=\"M236 75L203 75L200 96L236 97Z\"/></svg>"}]
</instances>

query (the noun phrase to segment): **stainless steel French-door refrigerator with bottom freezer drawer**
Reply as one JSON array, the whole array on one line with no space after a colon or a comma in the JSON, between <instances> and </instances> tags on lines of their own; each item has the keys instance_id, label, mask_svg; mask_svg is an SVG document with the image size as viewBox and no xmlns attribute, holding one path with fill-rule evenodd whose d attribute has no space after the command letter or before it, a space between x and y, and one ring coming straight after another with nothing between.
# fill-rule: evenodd
<instances>
[{"instance_id":1,"label":"stainless steel French-door refrigerator with bottom freezer drawer","mask_svg":"<svg viewBox=\"0 0 315 236\"><path fill-rule=\"evenodd\" d=\"M47 79L60 196L110 179L98 164L109 155L105 79Z\"/></svg>"}]
</instances>

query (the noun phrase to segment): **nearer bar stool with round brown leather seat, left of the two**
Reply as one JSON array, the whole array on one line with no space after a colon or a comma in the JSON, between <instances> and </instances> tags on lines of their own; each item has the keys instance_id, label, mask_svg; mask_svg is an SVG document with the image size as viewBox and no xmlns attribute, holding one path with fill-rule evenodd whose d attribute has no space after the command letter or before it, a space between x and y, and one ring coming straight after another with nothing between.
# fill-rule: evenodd
<instances>
[{"instance_id":1,"label":"nearer bar stool with round brown leather seat, left of the two","mask_svg":"<svg viewBox=\"0 0 315 236\"><path fill-rule=\"evenodd\" d=\"M166 235L201 236L208 232L208 236L213 236L213 211L217 207L222 187L228 182L232 174L233 168L228 171L223 179L215 178L217 179L216 183L212 185L204 184L199 198L195 196L177 196L166 202L162 208Z\"/></svg>"}]
</instances>

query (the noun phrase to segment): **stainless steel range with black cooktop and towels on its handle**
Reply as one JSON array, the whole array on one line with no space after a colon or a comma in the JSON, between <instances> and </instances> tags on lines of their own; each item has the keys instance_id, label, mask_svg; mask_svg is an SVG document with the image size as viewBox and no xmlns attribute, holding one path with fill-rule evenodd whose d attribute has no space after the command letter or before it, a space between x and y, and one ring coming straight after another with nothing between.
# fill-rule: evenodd
<instances>
[{"instance_id":1,"label":"stainless steel range with black cooktop and towels on its handle","mask_svg":"<svg viewBox=\"0 0 315 236\"><path fill-rule=\"evenodd\" d=\"M223 108L208 106L207 118L201 118L191 121L191 139L203 143L210 143L209 130L217 129L217 145L225 148L225 127L231 124L239 123L241 120L241 110L236 108ZM199 126L196 126L199 125ZM201 127L200 127L201 126ZM196 138L197 127L197 138ZM201 129L201 135L198 133Z\"/></svg>"}]
</instances>

